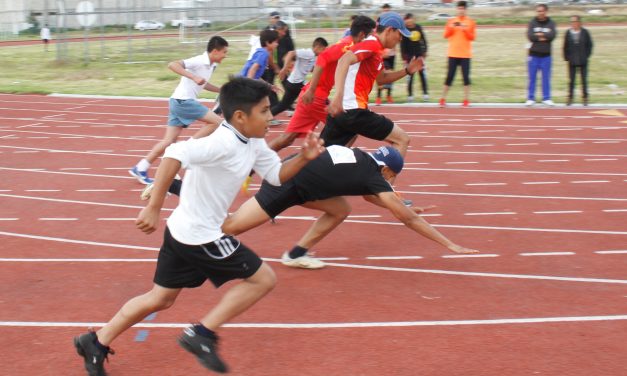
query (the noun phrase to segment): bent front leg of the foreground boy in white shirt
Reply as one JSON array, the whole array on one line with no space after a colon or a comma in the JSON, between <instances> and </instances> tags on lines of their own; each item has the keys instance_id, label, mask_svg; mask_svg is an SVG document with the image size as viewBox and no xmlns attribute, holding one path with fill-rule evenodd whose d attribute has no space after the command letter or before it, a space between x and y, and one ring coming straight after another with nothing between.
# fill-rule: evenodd
<instances>
[{"instance_id":1,"label":"bent front leg of the foreground boy in white shirt","mask_svg":"<svg viewBox=\"0 0 627 376\"><path fill-rule=\"evenodd\" d=\"M222 324L246 311L259 299L272 291L276 284L276 275L266 263L252 277L231 287L220 302L200 323L207 329L217 330Z\"/></svg>"}]
</instances>

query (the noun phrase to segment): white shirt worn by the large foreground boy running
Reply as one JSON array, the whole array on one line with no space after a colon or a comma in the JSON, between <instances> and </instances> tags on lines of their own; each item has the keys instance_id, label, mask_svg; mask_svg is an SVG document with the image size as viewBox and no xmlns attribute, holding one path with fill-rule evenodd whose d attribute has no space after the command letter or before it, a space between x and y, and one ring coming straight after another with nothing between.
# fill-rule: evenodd
<instances>
[{"instance_id":1,"label":"white shirt worn by the large foreground boy running","mask_svg":"<svg viewBox=\"0 0 627 376\"><path fill-rule=\"evenodd\" d=\"M179 205L168 218L177 241L199 245L222 237L228 209L251 170L281 185L281 161L263 138L246 138L227 122L210 136L170 145L163 155L185 172Z\"/></svg>"}]
</instances>

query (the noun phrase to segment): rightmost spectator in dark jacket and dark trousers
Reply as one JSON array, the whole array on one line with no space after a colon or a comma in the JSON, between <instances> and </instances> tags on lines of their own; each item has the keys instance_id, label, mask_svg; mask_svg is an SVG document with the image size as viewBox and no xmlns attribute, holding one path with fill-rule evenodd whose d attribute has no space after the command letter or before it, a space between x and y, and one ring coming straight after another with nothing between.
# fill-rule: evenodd
<instances>
[{"instance_id":1,"label":"rightmost spectator in dark jacket and dark trousers","mask_svg":"<svg viewBox=\"0 0 627 376\"><path fill-rule=\"evenodd\" d=\"M592 55L592 37L587 29L581 27L581 17L570 17L570 29L564 37L564 60L568 62L568 99L566 105L573 104L575 76L577 68L581 74L583 105L588 105L588 58Z\"/></svg>"}]
</instances>

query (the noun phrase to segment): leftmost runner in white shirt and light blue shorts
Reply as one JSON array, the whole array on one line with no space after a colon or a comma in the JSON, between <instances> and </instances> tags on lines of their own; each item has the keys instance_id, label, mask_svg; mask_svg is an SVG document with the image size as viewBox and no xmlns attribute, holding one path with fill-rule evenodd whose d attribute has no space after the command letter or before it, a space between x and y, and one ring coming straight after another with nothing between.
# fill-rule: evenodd
<instances>
[{"instance_id":1,"label":"leftmost runner in white shirt and light blue shorts","mask_svg":"<svg viewBox=\"0 0 627 376\"><path fill-rule=\"evenodd\" d=\"M176 142L183 128L187 128L196 120L206 123L194 137L203 137L213 132L222 121L220 116L209 111L206 106L198 102L197 98L202 90L218 93L219 86L209 83L211 75L218 64L226 57L228 42L219 36L214 36L207 43L207 52L185 60L173 61L168 68L181 76L181 80L170 97L168 126L165 135L146 157L128 170L140 183L150 184L153 179L148 176L150 165L159 158L165 148Z\"/></svg>"}]
</instances>

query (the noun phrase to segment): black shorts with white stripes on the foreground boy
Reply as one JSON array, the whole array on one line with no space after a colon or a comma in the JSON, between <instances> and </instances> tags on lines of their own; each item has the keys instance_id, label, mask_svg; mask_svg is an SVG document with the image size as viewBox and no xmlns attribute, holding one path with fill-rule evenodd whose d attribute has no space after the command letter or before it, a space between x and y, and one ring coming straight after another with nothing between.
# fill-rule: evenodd
<instances>
[{"instance_id":1,"label":"black shorts with white stripes on the foreground boy","mask_svg":"<svg viewBox=\"0 0 627 376\"><path fill-rule=\"evenodd\" d=\"M198 287L207 279L215 287L257 272L263 261L232 236L201 245L178 242L166 227L153 281L176 289Z\"/></svg>"}]
</instances>

